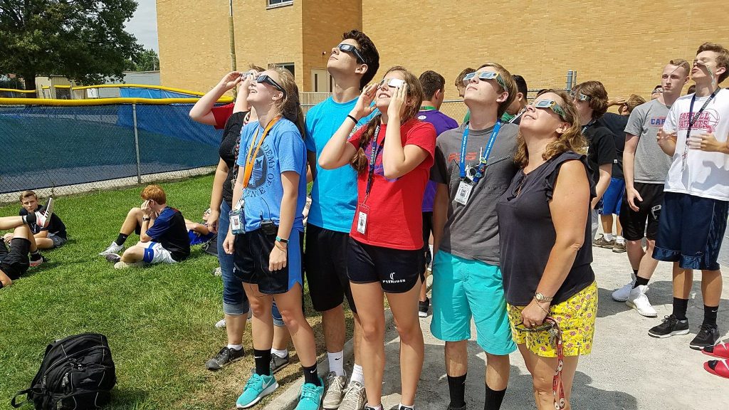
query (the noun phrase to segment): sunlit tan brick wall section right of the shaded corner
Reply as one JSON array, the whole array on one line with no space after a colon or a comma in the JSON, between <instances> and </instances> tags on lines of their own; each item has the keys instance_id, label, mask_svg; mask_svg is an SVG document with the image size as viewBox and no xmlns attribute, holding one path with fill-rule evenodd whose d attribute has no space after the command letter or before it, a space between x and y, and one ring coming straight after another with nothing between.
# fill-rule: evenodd
<instances>
[{"instance_id":1,"label":"sunlit tan brick wall section right of the shaded corner","mask_svg":"<svg viewBox=\"0 0 729 410\"><path fill-rule=\"evenodd\" d=\"M601 80L611 96L649 97L671 58L691 61L705 41L729 47L725 0L362 3L363 31L383 72L395 64L416 75L438 71L446 98L458 97L461 69L486 61L521 74L529 88L564 87L572 69L580 82Z\"/></svg>"}]
</instances>

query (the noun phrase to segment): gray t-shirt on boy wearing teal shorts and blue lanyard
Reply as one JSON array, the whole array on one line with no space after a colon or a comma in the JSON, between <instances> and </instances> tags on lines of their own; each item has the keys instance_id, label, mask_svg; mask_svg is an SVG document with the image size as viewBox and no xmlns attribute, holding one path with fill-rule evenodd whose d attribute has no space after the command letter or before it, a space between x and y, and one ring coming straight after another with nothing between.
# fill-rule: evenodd
<instances>
[{"instance_id":1,"label":"gray t-shirt on boy wearing teal shorts and blue lanyard","mask_svg":"<svg viewBox=\"0 0 729 410\"><path fill-rule=\"evenodd\" d=\"M443 228L440 250L460 258L480 260L499 266L499 223L496 218L496 200L506 192L518 171L514 163L516 136L519 128L502 124L496 142L488 157L486 177L473 187L465 205L456 202L459 189L461 141L465 125L445 131L438 136L435 164L430 171L432 181L448 185L448 220ZM480 152L486 150L492 128L469 131L466 146L466 169L477 167ZM474 170L475 171L475 170ZM469 171L468 174L472 174Z\"/></svg>"}]
</instances>

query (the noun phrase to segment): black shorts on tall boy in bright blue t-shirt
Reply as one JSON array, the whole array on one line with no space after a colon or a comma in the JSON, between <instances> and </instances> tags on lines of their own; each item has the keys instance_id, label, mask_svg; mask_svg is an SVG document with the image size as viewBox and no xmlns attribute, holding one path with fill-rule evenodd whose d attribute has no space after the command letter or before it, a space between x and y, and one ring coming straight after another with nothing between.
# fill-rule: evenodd
<instances>
[{"instance_id":1,"label":"black shorts on tall boy in bright blue t-shirt","mask_svg":"<svg viewBox=\"0 0 729 410\"><path fill-rule=\"evenodd\" d=\"M349 309L356 312L347 276L349 233L306 226L306 282L311 304L325 312L342 304L346 296Z\"/></svg>"}]
</instances>

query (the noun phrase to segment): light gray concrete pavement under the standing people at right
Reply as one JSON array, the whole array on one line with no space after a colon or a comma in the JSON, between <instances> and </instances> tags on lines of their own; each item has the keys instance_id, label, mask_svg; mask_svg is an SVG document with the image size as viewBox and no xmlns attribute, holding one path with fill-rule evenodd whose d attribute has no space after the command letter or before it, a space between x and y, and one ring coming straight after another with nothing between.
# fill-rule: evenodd
<instances>
[{"instance_id":1,"label":"light gray concrete pavement under the standing people at right","mask_svg":"<svg viewBox=\"0 0 729 410\"><path fill-rule=\"evenodd\" d=\"M729 409L729 379L703 370L709 357L689 349L703 318L700 274L695 276L688 317L691 334L669 339L654 339L647 330L660 322L634 312L625 303L610 298L612 290L630 279L625 253L593 248L593 268L599 285L599 312L592 355L582 357L574 379L573 409ZM729 330L729 268L724 268L724 291L719 310L722 336ZM660 263L649 285L648 296L658 317L671 314L671 265ZM445 409L448 384L443 364L443 342L429 333L431 317L421 320L425 334L425 365L418 387L416 408ZM475 330L472 331L475 335ZM386 333L386 369L383 385L385 409L399 402L399 339L392 326ZM729 341L729 339L727 340ZM471 410L483 409L483 351L475 341L469 343L467 403ZM531 378L521 355L511 355L509 390L502 409L531 409Z\"/></svg>"}]
</instances>

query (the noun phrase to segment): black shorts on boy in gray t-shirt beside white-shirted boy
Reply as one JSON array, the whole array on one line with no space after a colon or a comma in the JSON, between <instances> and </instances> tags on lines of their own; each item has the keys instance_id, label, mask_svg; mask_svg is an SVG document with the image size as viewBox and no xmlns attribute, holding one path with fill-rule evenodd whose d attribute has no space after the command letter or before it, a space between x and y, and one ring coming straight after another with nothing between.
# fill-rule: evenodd
<instances>
[{"instance_id":1,"label":"black shorts on boy in gray t-shirt beside white-shirted boy","mask_svg":"<svg viewBox=\"0 0 729 410\"><path fill-rule=\"evenodd\" d=\"M620 225L623 225L623 238L628 241L639 241L646 237L655 240L658 235L658 215L663 204L663 184L634 184L643 201L636 199L638 212L628 205L628 194L623 195L620 205ZM647 224L647 225L646 225Z\"/></svg>"}]
</instances>

